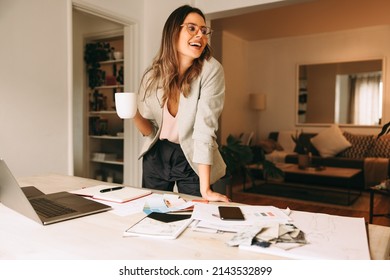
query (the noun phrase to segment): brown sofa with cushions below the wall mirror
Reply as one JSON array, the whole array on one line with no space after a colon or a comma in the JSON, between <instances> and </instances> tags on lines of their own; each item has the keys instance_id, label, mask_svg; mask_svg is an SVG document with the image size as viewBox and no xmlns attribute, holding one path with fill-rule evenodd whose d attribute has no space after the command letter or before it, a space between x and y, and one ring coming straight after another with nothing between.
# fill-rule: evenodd
<instances>
[{"instance_id":1,"label":"brown sofa with cushions below the wall mirror","mask_svg":"<svg viewBox=\"0 0 390 280\"><path fill-rule=\"evenodd\" d=\"M260 141L257 146L271 162L297 164L297 147L291 138L291 135L296 135L295 133L294 131L271 132L268 139ZM312 166L362 169L362 173L353 179L354 189L364 190L379 184L390 175L389 136L377 138L376 135L358 135L342 131L337 125L333 125L318 133L301 132L298 137L300 143L304 143L311 154ZM289 179L299 181L299 176ZM344 184L331 179L322 180L320 183L340 187Z\"/></svg>"}]
</instances>

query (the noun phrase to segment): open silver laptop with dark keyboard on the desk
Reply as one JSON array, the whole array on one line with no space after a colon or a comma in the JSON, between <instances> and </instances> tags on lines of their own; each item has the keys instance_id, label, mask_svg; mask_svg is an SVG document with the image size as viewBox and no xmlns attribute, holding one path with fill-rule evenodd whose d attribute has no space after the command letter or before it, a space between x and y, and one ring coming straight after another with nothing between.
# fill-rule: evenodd
<instances>
[{"instance_id":1,"label":"open silver laptop with dark keyboard on the desk","mask_svg":"<svg viewBox=\"0 0 390 280\"><path fill-rule=\"evenodd\" d=\"M21 188L3 159L0 159L0 202L43 225L111 209L68 192L44 194L35 187Z\"/></svg>"}]
</instances>

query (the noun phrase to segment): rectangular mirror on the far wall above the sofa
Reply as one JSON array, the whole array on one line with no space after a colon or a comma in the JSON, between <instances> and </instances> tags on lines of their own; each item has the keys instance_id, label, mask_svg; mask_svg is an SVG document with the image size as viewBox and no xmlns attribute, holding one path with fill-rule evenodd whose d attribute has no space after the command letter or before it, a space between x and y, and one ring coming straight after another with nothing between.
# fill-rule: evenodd
<instances>
[{"instance_id":1,"label":"rectangular mirror on the far wall above the sofa","mask_svg":"<svg viewBox=\"0 0 390 280\"><path fill-rule=\"evenodd\" d=\"M299 65L299 124L379 125L382 59Z\"/></svg>"}]
</instances>

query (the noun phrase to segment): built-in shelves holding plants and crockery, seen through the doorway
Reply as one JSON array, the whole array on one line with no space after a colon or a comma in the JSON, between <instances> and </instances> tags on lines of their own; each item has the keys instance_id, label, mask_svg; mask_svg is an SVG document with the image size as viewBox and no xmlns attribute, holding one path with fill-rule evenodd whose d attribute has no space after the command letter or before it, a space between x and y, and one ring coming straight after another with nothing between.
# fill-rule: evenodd
<instances>
[{"instance_id":1,"label":"built-in shelves holding plants and crockery, seen through the doorway","mask_svg":"<svg viewBox=\"0 0 390 280\"><path fill-rule=\"evenodd\" d=\"M85 51L89 47L97 59L92 71L86 62L87 177L114 183L123 183L124 124L116 114L115 93L124 90L124 60L115 59L113 51L123 54L123 44L123 36L104 38L87 42Z\"/></svg>"}]
</instances>

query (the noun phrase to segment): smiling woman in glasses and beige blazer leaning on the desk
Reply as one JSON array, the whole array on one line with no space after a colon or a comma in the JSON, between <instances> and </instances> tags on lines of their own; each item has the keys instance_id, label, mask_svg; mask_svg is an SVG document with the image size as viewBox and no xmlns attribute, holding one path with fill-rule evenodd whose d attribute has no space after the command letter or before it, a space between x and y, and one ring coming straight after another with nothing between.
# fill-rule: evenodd
<instances>
[{"instance_id":1,"label":"smiling woman in glasses and beige blazer leaning on the desk","mask_svg":"<svg viewBox=\"0 0 390 280\"><path fill-rule=\"evenodd\" d=\"M216 131L225 96L222 66L211 57L203 13L179 7L142 78L134 123L145 136L142 186L229 201L210 185L224 176Z\"/></svg>"}]
</instances>

